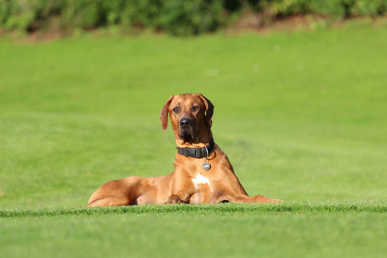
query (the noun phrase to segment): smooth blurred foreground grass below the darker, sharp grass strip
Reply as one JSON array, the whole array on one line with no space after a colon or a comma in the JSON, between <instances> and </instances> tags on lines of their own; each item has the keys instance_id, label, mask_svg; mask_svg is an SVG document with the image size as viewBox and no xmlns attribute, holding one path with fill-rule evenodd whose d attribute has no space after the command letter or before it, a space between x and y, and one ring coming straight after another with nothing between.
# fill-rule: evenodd
<instances>
[{"instance_id":1,"label":"smooth blurred foreground grass below the darker, sharp grass strip","mask_svg":"<svg viewBox=\"0 0 387 258\"><path fill-rule=\"evenodd\" d=\"M5 257L385 257L385 214L2 219Z\"/></svg>"}]
</instances>

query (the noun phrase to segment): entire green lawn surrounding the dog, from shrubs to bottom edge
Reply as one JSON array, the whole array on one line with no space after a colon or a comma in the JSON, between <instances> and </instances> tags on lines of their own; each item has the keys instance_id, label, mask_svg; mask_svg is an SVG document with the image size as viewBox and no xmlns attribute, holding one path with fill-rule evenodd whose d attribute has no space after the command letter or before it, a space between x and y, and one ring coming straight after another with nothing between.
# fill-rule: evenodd
<instances>
[{"instance_id":1,"label":"entire green lawn surrounding the dog, from shrubs to bottom edge","mask_svg":"<svg viewBox=\"0 0 387 258\"><path fill-rule=\"evenodd\" d=\"M375 201L387 199L386 43L387 29L371 27L1 39L0 256L387 257L386 205ZM293 208L68 208L106 181L173 171L159 110L197 92L215 106L214 140L247 193Z\"/></svg>"}]
</instances>

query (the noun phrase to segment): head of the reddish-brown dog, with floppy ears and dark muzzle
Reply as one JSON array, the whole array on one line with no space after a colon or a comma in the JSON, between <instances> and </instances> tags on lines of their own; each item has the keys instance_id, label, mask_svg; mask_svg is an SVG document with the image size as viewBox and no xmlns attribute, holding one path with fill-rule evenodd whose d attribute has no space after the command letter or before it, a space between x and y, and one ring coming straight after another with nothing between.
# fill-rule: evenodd
<instances>
[{"instance_id":1,"label":"head of the reddish-brown dog, with floppy ears and dark muzzle","mask_svg":"<svg viewBox=\"0 0 387 258\"><path fill-rule=\"evenodd\" d=\"M168 113L176 137L193 142L200 130L211 128L214 105L200 93L172 95L160 110L164 131L168 126Z\"/></svg>"}]
</instances>

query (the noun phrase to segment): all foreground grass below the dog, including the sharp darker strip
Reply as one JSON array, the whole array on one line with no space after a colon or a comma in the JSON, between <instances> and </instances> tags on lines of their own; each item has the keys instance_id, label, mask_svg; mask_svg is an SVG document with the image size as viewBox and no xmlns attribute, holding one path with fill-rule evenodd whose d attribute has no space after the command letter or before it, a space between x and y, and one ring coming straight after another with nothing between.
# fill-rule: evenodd
<instances>
[{"instance_id":1,"label":"all foreground grass below the dog, including the sharp darker strip","mask_svg":"<svg viewBox=\"0 0 387 258\"><path fill-rule=\"evenodd\" d=\"M3 209L0 250L5 257L384 257L386 210L385 200Z\"/></svg>"}]
</instances>

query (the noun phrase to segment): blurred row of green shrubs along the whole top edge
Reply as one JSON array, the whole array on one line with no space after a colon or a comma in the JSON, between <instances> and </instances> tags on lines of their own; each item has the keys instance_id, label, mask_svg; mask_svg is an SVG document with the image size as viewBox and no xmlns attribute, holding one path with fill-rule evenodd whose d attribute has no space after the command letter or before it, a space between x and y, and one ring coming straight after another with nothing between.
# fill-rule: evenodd
<instances>
[{"instance_id":1,"label":"blurred row of green shrubs along the whole top edge","mask_svg":"<svg viewBox=\"0 0 387 258\"><path fill-rule=\"evenodd\" d=\"M34 31L93 29L118 24L171 34L215 31L233 12L250 8L275 16L383 15L387 0L0 0L0 27Z\"/></svg>"}]
</instances>

